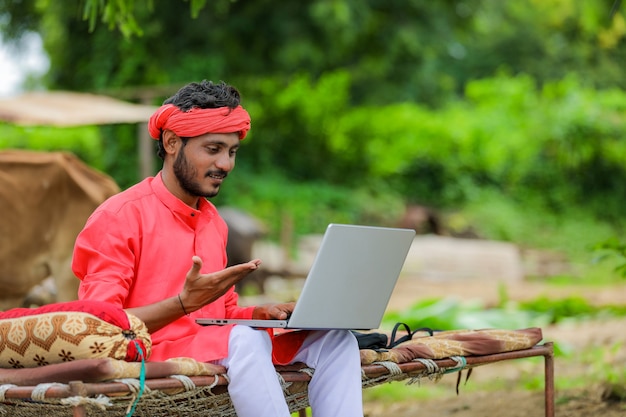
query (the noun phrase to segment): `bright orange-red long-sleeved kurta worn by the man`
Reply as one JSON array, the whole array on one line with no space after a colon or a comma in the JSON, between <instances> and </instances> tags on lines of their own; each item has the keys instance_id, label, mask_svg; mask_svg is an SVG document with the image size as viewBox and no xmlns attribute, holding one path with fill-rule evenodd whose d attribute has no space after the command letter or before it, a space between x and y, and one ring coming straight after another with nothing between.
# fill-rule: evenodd
<instances>
[{"instance_id":1,"label":"bright orange-red long-sleeved kurta worn by the man","mask_svg":"<svg viewBox=\"0 0 626 417\"><path fill-rule=\"evenodd\" d=\"M160 174L147 178L105 201L79 234L72 260L81 280L78 296L122 308L176 296L193 255L203 260L201 273L224 269L227 236L226 223L213 204L200 199L195 210L165 188ZM202 327L194 318L251 318L253 307L240 307L237 301L233 287L215 302L154 332L150 359L226 357L231 327Z\"/></svg>"}]
</instances>

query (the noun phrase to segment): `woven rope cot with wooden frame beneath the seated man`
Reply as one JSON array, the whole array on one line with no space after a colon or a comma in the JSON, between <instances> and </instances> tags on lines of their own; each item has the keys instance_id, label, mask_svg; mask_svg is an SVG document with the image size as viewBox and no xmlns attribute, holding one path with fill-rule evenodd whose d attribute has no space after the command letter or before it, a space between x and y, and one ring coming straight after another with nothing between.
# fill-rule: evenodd
<instances>
[{"instance_id":1,"label":"woven rope cot with wooden frame beneath the seated man","mask_svg":"<svg viewBox=\"0 0 626 417\"><path fill-rule=\"evenodd\" d=\"M545 360L545 415L554 416L554 365L551 343L528 349L478 356L443 359L416 358L408 362L373 362L362 366L363 388L392 382L413 383L421 378L438 379L445 373L460 372L491 363L529 357ZM306 415L307 387L314 370L304 366L277 367L285 397L292 412ZM236 416L227 392L224 375L140 379L37 386L0 385L0 416L115 416L132 411L138 417ZM141 395L140 395L141 394Z\"/></svg>"}]
</instances>

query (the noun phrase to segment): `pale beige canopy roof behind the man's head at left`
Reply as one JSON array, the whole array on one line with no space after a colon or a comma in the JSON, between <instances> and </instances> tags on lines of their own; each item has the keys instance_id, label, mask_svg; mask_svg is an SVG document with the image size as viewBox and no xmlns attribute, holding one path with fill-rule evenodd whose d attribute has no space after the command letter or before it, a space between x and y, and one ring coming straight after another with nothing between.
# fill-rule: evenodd
<instances>
[{"instance_id":1,"label":"pale beige canopy roof behind the man's head at left","mask_svg":"<svg viewBox=\"0 0 626 417\"><path fill-rule=\"evenodd\" d=\"M47 126L147 123L156 109L89 93L29 92L0 99L0 120Z\"/></svg>"}]
</instances>

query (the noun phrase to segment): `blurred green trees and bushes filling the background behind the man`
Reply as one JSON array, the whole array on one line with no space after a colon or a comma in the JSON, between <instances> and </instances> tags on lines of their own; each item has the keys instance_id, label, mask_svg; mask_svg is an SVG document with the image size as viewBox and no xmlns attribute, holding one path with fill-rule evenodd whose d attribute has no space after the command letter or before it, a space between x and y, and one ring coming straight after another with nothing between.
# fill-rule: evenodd
<instances>
[{"instance_id":1,"label":"blurred green trees and bushes filling the background behind the man","mask_svg":"<svg viewBox=\"0 0 626 417\"><path fill-rule=\"evenodd\" d=\"M148 92L159 103L190 80L241 86L254 118L241 158L257 172L433 201L458 201L467 184L545 191L552 177L576 179L547 196L555 206L583 189L622 195L624 6L611 15L602 0L279 5L0 0L10 16L0 28L43 35L52 88ZM601 117L607 109L613 118ZM129 150L135 137L107 140Z\"/></svg>"}]
</instances>

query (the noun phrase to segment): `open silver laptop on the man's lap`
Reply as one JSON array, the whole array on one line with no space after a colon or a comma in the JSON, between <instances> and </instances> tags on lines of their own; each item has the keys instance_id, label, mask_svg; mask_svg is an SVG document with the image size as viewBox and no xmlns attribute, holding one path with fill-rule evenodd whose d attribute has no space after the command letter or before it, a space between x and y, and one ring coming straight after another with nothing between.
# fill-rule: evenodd
<instances>
[{"instance_id":1,"label":"open silver laptop on the man's lap","mask_svg":"<svg viewBox=\"0 0 626 417\"><path fill-rule=\"evenodd\" d=\"M412 229L330 224L287 320L198 318L202 325L377 329L415 236Z\"/></svg>"}]
</instances>

